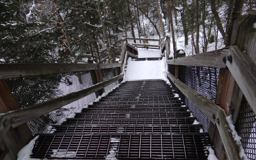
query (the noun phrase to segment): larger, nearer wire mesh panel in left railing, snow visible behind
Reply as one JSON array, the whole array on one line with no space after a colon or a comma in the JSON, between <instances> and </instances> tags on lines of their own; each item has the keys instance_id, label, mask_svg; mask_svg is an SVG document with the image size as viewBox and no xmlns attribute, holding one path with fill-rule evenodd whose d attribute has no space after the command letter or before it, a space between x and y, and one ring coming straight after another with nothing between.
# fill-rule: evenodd
<instances>
[{"instance_id":1,"label":"larger, nearer wire mesh panel in left railing, snow visible behind","mask_svg":"<svg viewBox=\"0 0 256 160\"><path fill-rule=\"evenodd\" d=\"M5 80L20 108L51 100L96 84L93 71L18 77ZM95 93L92 93L33 121L29 121L28 126L33 134L43 133L47 130L48 125L58 123L60 119L67 117L95 98Z\"/></svg>"}]
</instances>

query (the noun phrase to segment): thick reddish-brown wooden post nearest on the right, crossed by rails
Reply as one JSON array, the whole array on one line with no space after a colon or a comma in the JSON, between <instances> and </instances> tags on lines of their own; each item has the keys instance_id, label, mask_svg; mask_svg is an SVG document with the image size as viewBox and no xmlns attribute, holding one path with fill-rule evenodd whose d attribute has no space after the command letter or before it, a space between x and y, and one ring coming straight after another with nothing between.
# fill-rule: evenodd
<instances>
[{"instance_id":1,"label":"thick reddish-brown wooden post nearest on the right, crossed by rails","mask_svg":"<svg viewBox=\"0 0 256 160\"><path fill-rule=\"evenodd\" d=\"M249 54L254 64L256 61L255 56L255 29L252 25L256 21L256 16L246 15L240 19L235 20L232 31L231 45L237 45L244 54ZM227 115L233 114L233 121L236 122L237 114L243 99L243 93L237 85L234 77L226 68L220 69L219 82L217 86L217 95L215 103L223 108ZM214 145L216 156L219 160L226 159L225 149L220 140L220 133L216 125L210 124L209 135Z\"/></svg>"}]
</instances>

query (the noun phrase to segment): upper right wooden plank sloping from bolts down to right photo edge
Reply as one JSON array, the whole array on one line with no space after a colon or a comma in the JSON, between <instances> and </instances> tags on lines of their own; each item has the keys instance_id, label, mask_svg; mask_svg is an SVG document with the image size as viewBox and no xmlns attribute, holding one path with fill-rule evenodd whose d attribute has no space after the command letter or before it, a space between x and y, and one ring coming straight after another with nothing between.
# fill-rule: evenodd
<instances>
[{"instance_id":1,"label":"upper right wooden plank sloping from bolts down to right photo edge","mask_svg":"<svg viewBox=\"0 0 256 160\"><path fill-rule=\"evenodd\" d=\"M229 53L232 62L227 61L227 67L254 113L256 113L256 66L250 56L239 50L237 46L230 46Z\"/></svg>"}]
</instances>

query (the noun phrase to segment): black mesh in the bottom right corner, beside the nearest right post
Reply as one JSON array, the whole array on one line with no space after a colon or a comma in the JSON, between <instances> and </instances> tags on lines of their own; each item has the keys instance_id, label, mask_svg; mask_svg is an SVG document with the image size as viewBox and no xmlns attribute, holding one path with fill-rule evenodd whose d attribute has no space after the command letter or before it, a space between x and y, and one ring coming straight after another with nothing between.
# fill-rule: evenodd
<instances>
[{"instance_id":1,"label":"black mesh in the bottom right corner, beside the nearest right post","mask_svg":"<svg viewBox=\"0 0 256 160\"><path fill-rule=\"evenodd\" d=\"M244 98L236 120L236 130L243 139L242 144L249 159L256 159L255 113Z\"/></svg>"}]
</instances>

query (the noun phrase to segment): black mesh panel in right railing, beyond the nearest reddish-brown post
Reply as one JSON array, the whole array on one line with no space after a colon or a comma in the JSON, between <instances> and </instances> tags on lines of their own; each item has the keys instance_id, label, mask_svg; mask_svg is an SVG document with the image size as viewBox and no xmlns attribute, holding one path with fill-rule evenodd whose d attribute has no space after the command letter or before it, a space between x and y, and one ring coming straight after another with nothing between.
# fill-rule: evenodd
<instances>
[{"instance_id":1,"label":"black mesh panel in right railing, beyond the nearest reddish-brown post","mask_svg":"<svg viewBox=\"0 0 256 160\"><path fill-rule=\"evenodd\" d=\"M179 80L209 100L215 101L220 68L179 66ZM178 92L180 97L184 97ZM186 106L198 121L203 124L204 132L208 132L210 120L196 106L184 97Z\"/></svg>"}]
</instances>

